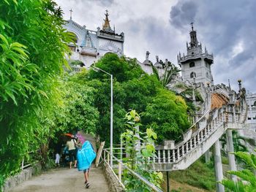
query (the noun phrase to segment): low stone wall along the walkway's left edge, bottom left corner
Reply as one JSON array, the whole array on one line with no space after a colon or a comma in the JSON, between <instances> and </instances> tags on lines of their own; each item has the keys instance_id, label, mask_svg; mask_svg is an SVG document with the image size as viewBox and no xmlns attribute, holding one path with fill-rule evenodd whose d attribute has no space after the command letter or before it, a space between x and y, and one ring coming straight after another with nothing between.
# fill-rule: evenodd
<instances>
[{"instance_id":1,"label":"low stone wall along the walkway's left edge, bottom left corner","mask_svg":"<svg viewBox=\"0 0 256 192\"><path fill-rule=\"evenodd\" d=\"M41 172L41 169L42 167L40 164L29 167L27 169L23 169L23 171L21 171L20 173L15 174L14 176L9 177L7 180L5 180L4 185L1 187L1 191L10 191L15 186L20 185L20 183L29 180L32 175L39 174Z\"/></svg>"}]
</instances>

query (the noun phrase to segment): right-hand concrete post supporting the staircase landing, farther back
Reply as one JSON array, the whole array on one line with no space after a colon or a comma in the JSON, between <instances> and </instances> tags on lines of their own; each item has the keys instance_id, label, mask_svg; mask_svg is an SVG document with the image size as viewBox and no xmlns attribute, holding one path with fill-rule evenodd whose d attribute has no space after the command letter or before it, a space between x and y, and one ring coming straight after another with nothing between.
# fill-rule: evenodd
<instances>
[{"instance_id":1,"label":"right-hand concrete post supporting the staircase landing, farther back","mask_svg":"<svg viewBox=\"0 0 256 192\"><path fill-rule=\"evenodd\" d=\"M227 129L226 131L226 140L227 140L227 158L228 158L229 169L231 171L236 171L235 155L230 154L234 152L232 130L230 129ZM237 181L236 175L231 174L231 179L236 182Z\"/></svg>"}]
</instances>

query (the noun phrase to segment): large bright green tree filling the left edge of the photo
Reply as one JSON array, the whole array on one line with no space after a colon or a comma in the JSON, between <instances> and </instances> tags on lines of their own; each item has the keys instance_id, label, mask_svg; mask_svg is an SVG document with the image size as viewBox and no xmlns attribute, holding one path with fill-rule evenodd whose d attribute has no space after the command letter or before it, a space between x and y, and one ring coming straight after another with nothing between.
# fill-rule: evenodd
<instances>
[{"instance_id":1,"label":"large bright green tree filling the left edge of the photo","mask_svg":"<svg viewBox=\"0 0 256 192\"><path fill-rule=\"evenodd\" d=\"M58 104L70 39L51 0L4 0L0 9L0 174L6 177L39 147L35 137L45 136L36 134L44 130L38 115L51 115L47 108Z\"/></svg>"}]
</instances>

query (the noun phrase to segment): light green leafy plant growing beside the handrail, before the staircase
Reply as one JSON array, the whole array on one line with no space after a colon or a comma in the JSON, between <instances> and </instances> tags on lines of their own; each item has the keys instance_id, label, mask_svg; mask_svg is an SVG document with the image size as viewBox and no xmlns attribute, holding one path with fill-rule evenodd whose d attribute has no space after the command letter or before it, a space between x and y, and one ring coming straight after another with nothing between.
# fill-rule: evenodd
<instances>
[{"instance_id":1,"label":"light green leafy plant growing beside the handrail, before the staircase","mask_svg":"<svg viewBox=\"0 0 256 192\"><path fill-rule=\"evenodd\" d=\"M121 140L129 157L123 158L123 161L130 169L160 188L162 172L151 172L141 166L143 162L148 162L148 157L154 156L154 140L157 139L157 134L151 128L147 128L146 133L139 131L140 116L135 110L127 113L126 120L129 129L121 134ZM127 170L124 171L124 185L127 191L151 191L151 188Z\"/></svg>"}]
</instances>

